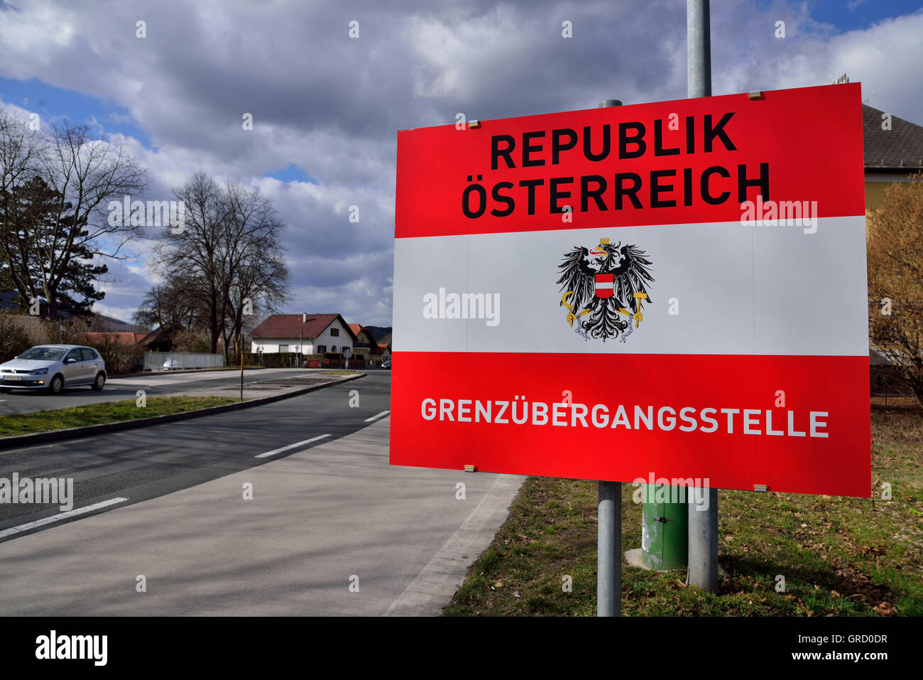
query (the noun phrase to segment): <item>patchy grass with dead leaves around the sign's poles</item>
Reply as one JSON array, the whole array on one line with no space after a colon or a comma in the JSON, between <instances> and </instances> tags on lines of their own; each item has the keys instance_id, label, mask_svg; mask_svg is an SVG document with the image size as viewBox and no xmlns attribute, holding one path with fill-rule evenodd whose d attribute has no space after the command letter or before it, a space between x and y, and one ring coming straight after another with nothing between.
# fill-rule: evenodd
<instances>
[{"instance_id":1,"label":"patchy grass with dead leaves around the sign's poles","mask_svg":"<svg viewBox=\"0 0 923 680\"><path fill-rule=\"evenodd\" d=\"M923 409L873 403L871 425L873 498L722 491L719 592L685 586L683 571L623 565L622 613L923 615ZM623 551L641 547L633 491L623 485ZM595 597L596 482L529 478L443 614L591 616Z\"/></svg>"}]
</instances>

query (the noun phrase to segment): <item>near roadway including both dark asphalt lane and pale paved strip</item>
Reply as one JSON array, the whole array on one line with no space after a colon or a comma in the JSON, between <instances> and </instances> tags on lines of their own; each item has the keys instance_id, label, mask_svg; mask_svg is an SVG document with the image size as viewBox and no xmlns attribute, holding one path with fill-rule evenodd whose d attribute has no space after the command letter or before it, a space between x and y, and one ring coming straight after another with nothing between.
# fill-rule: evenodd
<instances>
[{"instance_id":1,"label":"near roadway including both dark asphalt lane and pale paved strip","mask_svg":"<svg viewBox=\"0 0 923 680\"><path fill-rule=\"evenodd\" d=\"M41 526L61 510L0 504L0 615L438 613L521 478L390 467L389 409L382 371L0 452L0 478L72 477L75 510L110 503Z\"/></svg>"}]
</instances>

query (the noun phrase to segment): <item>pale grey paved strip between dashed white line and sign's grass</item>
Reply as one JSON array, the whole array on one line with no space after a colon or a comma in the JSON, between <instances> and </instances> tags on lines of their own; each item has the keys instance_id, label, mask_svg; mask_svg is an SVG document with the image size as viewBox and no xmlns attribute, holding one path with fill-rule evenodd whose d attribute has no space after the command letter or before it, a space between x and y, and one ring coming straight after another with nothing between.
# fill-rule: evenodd
<instances>
[{"instance_id":1,"label":"pale grey paved strip between dashed white line and sign's grass","mask_svg":"<svg viewBox=\"0 0 923 680\"><path fill-rule=\"evenodd\" d=\"M391 467L389 426L6 541L0 615L438 614L524 478Z\"/></svg>"}]
</instances>

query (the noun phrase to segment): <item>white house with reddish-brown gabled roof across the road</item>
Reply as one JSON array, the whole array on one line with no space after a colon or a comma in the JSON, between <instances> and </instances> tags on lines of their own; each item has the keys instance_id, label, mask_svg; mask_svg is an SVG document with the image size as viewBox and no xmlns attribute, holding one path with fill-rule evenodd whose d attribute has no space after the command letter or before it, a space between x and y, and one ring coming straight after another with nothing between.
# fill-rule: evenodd
<instances>
[{"instance_id":1,"label":"white house with reddish-brown gabled roof across the road","mask_svg":"<svg viewBox=\"0 0 923 680\"><path fill-rule=\"evenodd\" d=\"M349 324L339 314L273 314L250 333L252 352L276 354L353 353L358 342Z\"/></svg>"}]
</instances>

